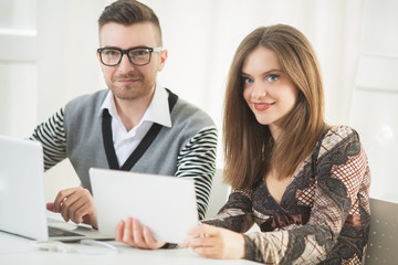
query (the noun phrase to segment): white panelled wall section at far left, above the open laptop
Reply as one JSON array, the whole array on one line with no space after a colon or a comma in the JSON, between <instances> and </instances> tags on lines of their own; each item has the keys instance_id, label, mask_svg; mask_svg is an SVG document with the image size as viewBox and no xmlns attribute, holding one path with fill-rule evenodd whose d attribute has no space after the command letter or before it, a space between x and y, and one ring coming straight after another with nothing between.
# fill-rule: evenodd
<instances>
[{"instance_id":1,"label":"white panelled wall section at far left, above the open laptop","mask_svg":"<svg viewBox=\"0 0 398 265\"><path fill-rule=\"evenodd\" d=\"M0 1L0 134L3 135L23 137L36 123L35 7L34 0Z\"/></svg>"}]
</instances>

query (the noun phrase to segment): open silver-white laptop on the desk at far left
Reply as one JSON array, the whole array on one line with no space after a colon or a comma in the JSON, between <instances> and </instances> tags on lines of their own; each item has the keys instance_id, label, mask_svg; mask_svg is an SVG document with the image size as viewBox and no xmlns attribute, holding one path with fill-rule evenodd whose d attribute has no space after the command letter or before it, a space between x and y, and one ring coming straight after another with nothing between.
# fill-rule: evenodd
<instances>
[{"instance_id":1,"label":"open silver-white laptop on the desk at far left","mask_svg":"<svg viewBox=\"0 0 398 265\"><path fill-rule=\"evenodd\" d=\"M0 231L40 241L105 240L88 225L48 219L41 144L0 135Z\"/></svg>"}]
</instances>

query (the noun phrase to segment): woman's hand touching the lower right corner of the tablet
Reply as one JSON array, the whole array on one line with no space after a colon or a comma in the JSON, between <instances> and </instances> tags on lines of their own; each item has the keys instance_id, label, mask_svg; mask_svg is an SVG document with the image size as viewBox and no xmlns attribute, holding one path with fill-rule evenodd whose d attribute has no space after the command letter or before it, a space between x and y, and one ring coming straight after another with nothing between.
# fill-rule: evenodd
<instances>
[{"instance_id":1,"label":"woman's hand touching the lower right corner of the tablet","mask_svg":"<svg viewBox=\"0 0 398 265\"><path fill-rule=\"evenodd\" d=\"M188 232L195 236L186 240L184 245L190 246L201 256L212 258L242 258L244 257L244 237L242 234L200 224Z\"/></svg>"}]
</instances>

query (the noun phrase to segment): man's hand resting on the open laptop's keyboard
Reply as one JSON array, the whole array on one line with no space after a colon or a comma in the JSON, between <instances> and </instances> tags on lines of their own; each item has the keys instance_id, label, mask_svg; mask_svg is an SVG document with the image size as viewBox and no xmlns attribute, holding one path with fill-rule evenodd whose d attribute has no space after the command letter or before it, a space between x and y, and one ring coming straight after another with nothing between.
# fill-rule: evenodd
<instances>
[{"instance_id":1,"label":"man's hand resting on the open laptop's keyboard","mask_svg":"<svg viewBox=\"0 0 398 265\"><path fill-rule=\"evenodd\" d=\"M61 213L65 222L91 224L98 227L93 197L87 189L82 187L70 188L57 193L54 202L46 203L46 209Z\"/></svg>"}]
</instances>

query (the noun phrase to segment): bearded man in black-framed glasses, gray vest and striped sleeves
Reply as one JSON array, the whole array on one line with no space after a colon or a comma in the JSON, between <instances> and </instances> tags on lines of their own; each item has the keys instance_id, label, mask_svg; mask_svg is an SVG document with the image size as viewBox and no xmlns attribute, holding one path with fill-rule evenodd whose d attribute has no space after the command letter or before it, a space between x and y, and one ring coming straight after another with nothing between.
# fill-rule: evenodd
<instances>
[{"instance_id":1,"label":"bearded man in black-framed glasses, gray vest and striped sleeves","mask_svg":"<svg viewBox=\"0 0 398 265\"><path fill-rule=\"evenodd\" d=\"M31 136L43 145L45 169L69 158L82 181L48 209L97 227L88 178L97 167L192 178L205 218L217 130L207 114L156 82L167 59L158 18L140 2L121 0L105 8L98 26L96 55L109 89L71 100Z\"/></svg>"}]
</instances>

